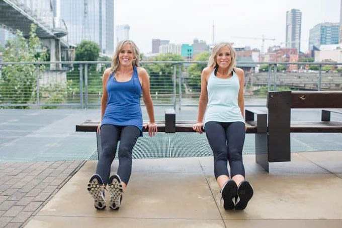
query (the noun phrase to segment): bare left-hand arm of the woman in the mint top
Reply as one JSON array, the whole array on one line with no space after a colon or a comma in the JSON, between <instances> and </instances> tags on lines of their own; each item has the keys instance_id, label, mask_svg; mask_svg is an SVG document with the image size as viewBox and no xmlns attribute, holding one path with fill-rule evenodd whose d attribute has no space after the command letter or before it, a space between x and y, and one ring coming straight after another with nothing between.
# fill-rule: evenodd
<instances>
[{"instance_id":1,"label":"bare left-hand arm of the woman in the mint top","mask_svg":"<svg viewBox=\"0 0 342 228\"><path fill-rule=\"evenodd\" d=\"M207 80L208 75L212 72L211 67L206 67L202 70L201 74L201 95L200 100L198 102L198 116L197 123L193 126L193 129L199 133L203 133L203 118L204 113L208 104L208 92L207 92Z\"/></svg>"}]
</instances>

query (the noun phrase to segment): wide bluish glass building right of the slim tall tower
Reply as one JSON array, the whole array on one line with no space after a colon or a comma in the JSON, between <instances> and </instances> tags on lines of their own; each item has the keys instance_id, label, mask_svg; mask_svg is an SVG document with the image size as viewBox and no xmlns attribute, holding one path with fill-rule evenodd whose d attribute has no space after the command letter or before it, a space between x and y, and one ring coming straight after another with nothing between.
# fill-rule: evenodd
<instances>
[{"instance_id":1,"label":"wide bluish glass building right of the slim tall tower","mask_svg":"<svg viewBox=\"0 0 342 228\"><path fill-rule=\"evenodd\" d=\"M313 46L317 48L323 44L338 44L339 39L339 23L320 23L310 29L309 50Z\"/></svg>"}]
</instances>

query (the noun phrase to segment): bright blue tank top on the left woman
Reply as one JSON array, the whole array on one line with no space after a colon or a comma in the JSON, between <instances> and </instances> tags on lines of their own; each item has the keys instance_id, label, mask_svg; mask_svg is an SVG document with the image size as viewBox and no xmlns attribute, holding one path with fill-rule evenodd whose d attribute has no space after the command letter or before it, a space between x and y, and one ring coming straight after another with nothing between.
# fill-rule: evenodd
<instances>
[{"instance_id":1,"label":"bright blue tank top on the left woman","mask_svg":"<svg viewBox=\"0 0 342 228\"><path fill-rule=\"evenodd\" d=\"M142 114L140 108L141 84L137 68L133 67L132 78L127 82L117 82L111 73L107 82L108 102L101 126L136 126L142 136Z\"/></svg>"}]
</instances>

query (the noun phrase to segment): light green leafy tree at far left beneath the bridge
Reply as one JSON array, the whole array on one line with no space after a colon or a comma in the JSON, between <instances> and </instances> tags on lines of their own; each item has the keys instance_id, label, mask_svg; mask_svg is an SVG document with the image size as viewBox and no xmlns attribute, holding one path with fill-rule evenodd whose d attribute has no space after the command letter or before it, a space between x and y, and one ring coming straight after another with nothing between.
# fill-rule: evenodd
<instances>
[{"instance_id":1,"label":"light green leafy tree at far left beneath the bridge","mask_svg":"<svg viewBox=\"0 0 342 228\"><path fill-rule=\"evenodd\" d=\"M36 35L37 26L31 24L30 37L25 40L23 33L17 30L16 37L7 41L3 53L3 61L43 61L46 49L42 47ZM39 53L37 50L41 50ZM0 103L26 104L36 100L37 67L39 71L44 66L34 64L5 65L0 78ZM17 108L27 108L19 106Z\"/></svg>"}]
</instances>

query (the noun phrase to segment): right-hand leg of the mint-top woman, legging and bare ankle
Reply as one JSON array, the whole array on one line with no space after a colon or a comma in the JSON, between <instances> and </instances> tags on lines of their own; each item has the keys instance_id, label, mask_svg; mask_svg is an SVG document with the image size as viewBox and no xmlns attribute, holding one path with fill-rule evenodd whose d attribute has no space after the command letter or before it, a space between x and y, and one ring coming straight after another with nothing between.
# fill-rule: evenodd
<instances>
[{"instance_id":1,"label":"right-hand leg of the mint-top woman, legging and bare ankle","mask_svg":"<svg viewBox=\"0 0 342 228\"><path fill-rule=\"evenodd\" d=\"M245 134L245 125L243 122L229 123L226 128L230 175L237 186L244 180L245 175L242 163L242 148Z\"/></svg>"}]
</instances>

